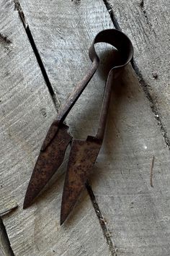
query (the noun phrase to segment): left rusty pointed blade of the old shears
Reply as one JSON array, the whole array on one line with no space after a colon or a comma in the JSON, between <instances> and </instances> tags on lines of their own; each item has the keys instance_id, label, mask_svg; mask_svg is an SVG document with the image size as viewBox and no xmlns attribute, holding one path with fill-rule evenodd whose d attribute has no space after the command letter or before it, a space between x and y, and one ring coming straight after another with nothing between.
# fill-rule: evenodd
<instances>
[{"instance_id":1,"label":"left rusty pointed blade of the old shears","mask_svg":"<svg viewBox=\"0 0 170 256\"><path fill-rule=\"evenodd\" d=\"M23 208L27 208L32 204L35 197L37 197L55 171L61 166L66 148L71 140L72 137L68 133L68 126L61 124L53 140L50 141L50 144L45 150L40 151L24 197Z\"/></svg>"}]
</instances>

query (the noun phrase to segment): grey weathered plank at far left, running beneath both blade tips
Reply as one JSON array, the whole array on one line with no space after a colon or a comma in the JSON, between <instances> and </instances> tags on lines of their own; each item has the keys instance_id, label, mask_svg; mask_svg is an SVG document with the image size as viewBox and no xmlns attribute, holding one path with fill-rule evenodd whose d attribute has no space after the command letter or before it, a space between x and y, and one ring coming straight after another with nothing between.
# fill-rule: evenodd
<instances>
[{"instance_id":1,"label":"grey weathered plank at far left, running beneath both blade tips","mask_svg":"<svg viewBox=\"0 0 170 256\"><path fill-rule=\"evenodd\" d=\"M28 210L24 193L42 140L56 112L13 1L1 1L0 209L14 255L109 255L102 229L84 193L79 214L60 227L63 178Z\"/></svg>"}]
</instances>

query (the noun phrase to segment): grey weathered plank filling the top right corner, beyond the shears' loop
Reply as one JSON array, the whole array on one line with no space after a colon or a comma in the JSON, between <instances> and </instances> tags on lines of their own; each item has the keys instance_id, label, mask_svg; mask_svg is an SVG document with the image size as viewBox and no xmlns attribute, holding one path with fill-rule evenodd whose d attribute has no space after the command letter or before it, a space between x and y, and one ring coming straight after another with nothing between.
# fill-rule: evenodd
<instances>
[{"instance_id":1,"label":"grey weathered plank filling the top right corner, beyond the shears' loop","mask_svg":"<svg viewBox=\"0 0 170 256\"><path fill-rule=\"evenodd\" d=\"M135 62L170 138L170 2L107 0L116 22L135 48ZM154 106L152 106L154 108ZM164 133L163 132L163 133Z\"/></svg>"}]
</instances>

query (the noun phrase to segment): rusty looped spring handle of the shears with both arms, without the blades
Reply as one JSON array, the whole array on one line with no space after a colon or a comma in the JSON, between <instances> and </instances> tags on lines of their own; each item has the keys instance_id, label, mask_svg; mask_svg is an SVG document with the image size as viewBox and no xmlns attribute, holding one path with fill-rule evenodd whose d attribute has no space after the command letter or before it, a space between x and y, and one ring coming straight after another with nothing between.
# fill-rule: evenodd
<instances>
[{"instance_id":1,"label":"rusty looped spring handle of the shears with both arms, without the blades","mask_svg":"<svg viewBox=\"0 0 170 256\"><path fill-rule=\"evenodd\" d=\"M109 43L115 48L117 48L117 50L120 52L120 65L115 66L110 70L104 90L104 100L102 103L102 110L99 119L99 129L96 136L96 138L99 140L103 139L105 122L107 119L107 108L109 106L109 95L111 90L110 77L112 77L112 73L115 73L116 70L125 67L125 65L127 65L133 58L133 45L130 39L120 30L115 29L102 30L94 38L93 43L89 48L89 57L92 61L92 67L81 80L81 82L79 82L79 84L73 90L73 93L71 93L65 105L59 111L57 119L55 119L55 121L53 121L53 124L51 124L45 141L43 142L41 150L45 150L45 148L47 148L50 142L53 140L53 137L55 137L56 132L58 132L59 125L66 119L66 116L68 115L69 111L71 111L71 108L73 108L73 105L79 99L81 93L83 93L84 89L86 88L89 81L96 72L97 68L99 67L99 57L97 56L97 52L95 51L94 47L96 43Z\"/></svg>"}]
</instances>

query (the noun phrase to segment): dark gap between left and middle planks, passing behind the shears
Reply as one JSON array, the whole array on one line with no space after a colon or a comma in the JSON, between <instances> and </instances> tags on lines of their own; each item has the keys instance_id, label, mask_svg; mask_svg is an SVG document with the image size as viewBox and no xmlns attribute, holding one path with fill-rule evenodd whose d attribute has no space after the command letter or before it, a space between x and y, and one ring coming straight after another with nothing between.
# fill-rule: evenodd
<instances>
[{"instance_id":1,"label":"dark gap between left and middle planks, passing behind the shears","mask_svg":"<svg viewBox=\"0 0 170 256\"><path fill-rule=\"evenodd\" d=\"M15 4L15 9L17 9L17 11L19 13L19 17L22 20L22 25L24 26L24 30L25 30L25 32L27 34L27 38L30 41L30 44L32 46L32 51L35 54L35 57L37 59L37 63L39 65L39 67L40 67L40 70L41 70L42 75L44 77L45 83L46 83L46 85L48 87L48 91L49 91L49 93L51 95L53 103L55 104L56 111L58 111L58 108L61 106L61 103L60 103L60 101L58 99L58 96L55 93L55 90L53 90L53 86L51 85L50 79L49 79L48 74L47 74L47 72L45 70L44 64L43 64L42 59L40 57L40 54L38 52L37 46L35 44L35 40L34 40L34 38L32 36L31 30L30 30L30 27L29 27L29 24L27 23L27 18L24 15L24 11L23 11L19 1L18 0L14 0L14 4ZM104 237L105 237L105 239L107 241L107 244L109 246L109 251L110 251L112 256L117 256L117 249L115 249L115 246L114 246L114 244L112 242L111 236L109 234L109 229L107 228L107 224L104 221L104 216L102 216L102 212L99 209L99 205L97 203L97 200L95 198L95 195L94 195L94 192L93 192L93 190L91 188L91 185L89 184L89 181L86 182L86 190L87 190L87 192L89 194L89 197L91 199L91 203L92 203L92 205L94 207L95 213L97 214L97 218L99 219L99 224L100 224L100 226L102 228ZM6 236L7 236L7 234L6 234ZM10 244L9 244L9 247L10 247ZM10 247L10 249L11 249L11 247ZM12 251L12 249L11 249L11 251ZM12 252L12 253L13 253L12 254L12 256L13 256L14 252Z\"/></svg>"}]
</instances>

